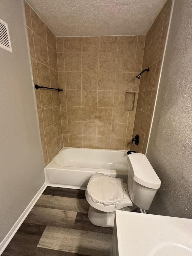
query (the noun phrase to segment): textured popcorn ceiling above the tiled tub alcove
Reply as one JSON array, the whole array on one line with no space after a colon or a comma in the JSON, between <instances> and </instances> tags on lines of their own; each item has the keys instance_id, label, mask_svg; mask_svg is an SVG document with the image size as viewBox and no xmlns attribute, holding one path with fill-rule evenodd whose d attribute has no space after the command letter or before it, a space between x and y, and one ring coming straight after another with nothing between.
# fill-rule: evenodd
<instances>
[{"instance_id":1,"label":"textured popcorn ceiling above the tiled tub alcove","mask_svg":"<svg viewBox=\"0 0 192 256\"><path fill-rule=\"evenodd\" d=\"M146 35L166 0L27 0L56 36Z\"/></svg>"}]
</instances>

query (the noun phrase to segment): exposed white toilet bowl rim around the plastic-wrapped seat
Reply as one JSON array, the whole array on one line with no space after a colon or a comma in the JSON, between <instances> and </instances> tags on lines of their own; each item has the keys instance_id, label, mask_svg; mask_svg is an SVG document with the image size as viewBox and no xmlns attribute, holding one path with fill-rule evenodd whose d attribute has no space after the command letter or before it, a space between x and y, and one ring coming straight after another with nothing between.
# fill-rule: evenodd
<instances>
[{"instance_id":1,"label":"exposed white toilet bowl rim around the plastic-wrapped seat","mask_svg":"<svg viewBox=\"0 0 192 256\"><path fill-rule=\"evenodd\" d=\"M120 203L119 206L115 207L115 205L106 205L104 206L102 203L95 203L88 195L87 191L85 191L85 197L88 201L88 203L94 207L95 209L102 211L102 212L115 212L116 210L122 209L127 206L133 206L133 202L131 201L131 198L128 193L127 184L124 185L124 199Z\"/></svg>"}]
</instances>

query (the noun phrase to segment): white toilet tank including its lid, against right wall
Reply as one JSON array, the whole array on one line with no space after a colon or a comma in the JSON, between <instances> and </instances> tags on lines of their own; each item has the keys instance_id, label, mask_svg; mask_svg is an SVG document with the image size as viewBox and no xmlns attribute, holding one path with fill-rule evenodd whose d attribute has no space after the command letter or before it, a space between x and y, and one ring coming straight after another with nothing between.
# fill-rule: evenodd
<instances>
[{"instance_id":1,"label":"white toilet tank including its lid, against right wall","mask_svg":"<svg viewBox=\"0 0 192 256\"><path fill-rule=\"evenodd\" d=\"M128 191L132 202L139 208L149 210L161 180L155 173L146 155L128 155Z\"/></svg>"}]
</instances>

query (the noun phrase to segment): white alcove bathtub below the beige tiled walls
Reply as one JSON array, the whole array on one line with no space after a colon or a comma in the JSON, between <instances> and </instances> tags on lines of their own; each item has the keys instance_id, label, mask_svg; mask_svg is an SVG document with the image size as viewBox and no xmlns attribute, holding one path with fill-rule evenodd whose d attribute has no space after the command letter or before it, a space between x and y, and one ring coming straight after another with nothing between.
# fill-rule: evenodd
<instances>
[{"instance_id":1,"label":"white alcove bathtub below the beige tiled walls","mask_svg":"<svg viewBox=\"0 0 192 256\"><path fill-rule=\"evenodd\" d=\"M86 189L91 175L104 173L127 183L127 151L62 148L44 168L48 186Z\"/></svg>"}]
</instances>

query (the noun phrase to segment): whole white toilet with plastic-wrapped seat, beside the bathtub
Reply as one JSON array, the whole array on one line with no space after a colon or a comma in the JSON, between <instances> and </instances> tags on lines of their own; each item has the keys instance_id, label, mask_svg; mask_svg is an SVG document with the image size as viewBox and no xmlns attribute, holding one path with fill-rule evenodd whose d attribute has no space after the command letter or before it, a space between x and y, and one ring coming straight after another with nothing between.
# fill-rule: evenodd
<instances>
[{"instance_id":1,"label":"whole white toilet with plastic-wrapped seat, beside the bathtub","mask_svg":"<svg viewBox=\"0 0 192 256\"><path fill-rule=\"evenodd\" d=\"M92 224L113 227L116 210L149 210L161 180L144 154L128 155L128 166L128 184L102 173L91 176L85 197Z\"/></svg>"}]
</instances>

